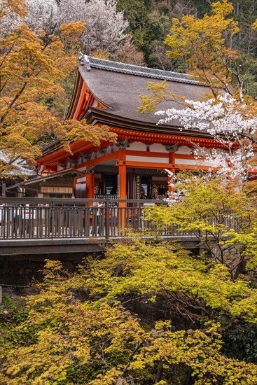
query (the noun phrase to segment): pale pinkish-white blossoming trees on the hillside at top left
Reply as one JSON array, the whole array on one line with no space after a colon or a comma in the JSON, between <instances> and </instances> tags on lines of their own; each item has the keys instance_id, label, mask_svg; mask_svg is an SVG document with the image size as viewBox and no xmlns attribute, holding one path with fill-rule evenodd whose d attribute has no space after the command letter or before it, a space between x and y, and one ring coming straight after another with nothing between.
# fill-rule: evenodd
<instances>
[{"instance_id":1,"label":"pale pinkish-white blossoming trees on the hillside at top left","mask_svg":"<svg viewBox=\"0 0 257 385\"><path fill-rule=\"evenodd\" d=\"M129 25L123 12L116 10L117 0L30 0L27 1L27 17L7 15L2 29L8 33L25 22L32 31L43 29L49 35L60 34L60 25L71 21L83 21L87 25L81 35L81 49L88 54L100 50L113 54L129 41L126 30Z\"/></svg>"}]
</instances>

